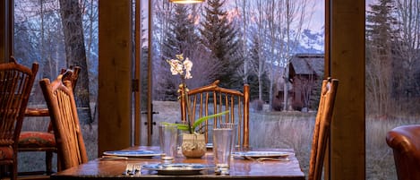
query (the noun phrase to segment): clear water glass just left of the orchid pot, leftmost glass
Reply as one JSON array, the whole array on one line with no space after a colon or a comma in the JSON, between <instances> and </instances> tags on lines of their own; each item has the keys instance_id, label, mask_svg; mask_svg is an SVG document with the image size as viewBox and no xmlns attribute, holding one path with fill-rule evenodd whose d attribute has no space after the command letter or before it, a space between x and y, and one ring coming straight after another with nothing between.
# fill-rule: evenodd
<instances>
[{"instance_id":1,"label":"clear water glass just left of the orchid pot, leftmost glass","mask_svg":"<svg viewBox=\"0 0 420 180\"><path fill-rule=\"evenodd\" d=\"M159 124L161 159L172 160L176 156L178 128L175 124Z\"/></svg>"}]
</instances>

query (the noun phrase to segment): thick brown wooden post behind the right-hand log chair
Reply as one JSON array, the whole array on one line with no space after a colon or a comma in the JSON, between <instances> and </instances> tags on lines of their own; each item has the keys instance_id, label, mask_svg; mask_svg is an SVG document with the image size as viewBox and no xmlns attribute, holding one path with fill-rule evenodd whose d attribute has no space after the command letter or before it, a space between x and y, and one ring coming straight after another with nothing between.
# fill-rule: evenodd
<instances>
[{"instance_id":1,"label":"thick brown wooden post behind the right-hand log chair","mask_svg":"<svg viewBox=\"0 0 420 180\"><path fill-rule=\"evenodd\" d=\"M331 2L330 73L339 79L331 125L331 179L365 179L365 2Z\"/></svg>"}]
</instances>

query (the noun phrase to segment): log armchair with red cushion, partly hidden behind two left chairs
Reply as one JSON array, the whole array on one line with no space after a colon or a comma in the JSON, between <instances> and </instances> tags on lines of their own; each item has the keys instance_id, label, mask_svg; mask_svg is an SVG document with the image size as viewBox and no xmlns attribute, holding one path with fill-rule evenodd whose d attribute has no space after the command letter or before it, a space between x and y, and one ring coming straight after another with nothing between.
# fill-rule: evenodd
<instances>
[{"instance_id":1,"label":"log armchair with red cushion, partly hidden behind two left chairs","mask_svg":"<svg viewBox=\"0 0 420 180\"><path fill-rule=\"evenodd\" d=\"M79 78L81 68L72 66L68 69L63 68L60 74L63 74L64 81L71 81L74 90L76 82ZM28 117L49 117L47 108L28 107L25 111ZM21 132L18 144L18 151L45 151L46 152L46 171L19 172L20 175L51 175L53 173L52 162L53 153L56 152L56 139L54 138L53 127L51 121L48 123L46 132ZM57 159L59 160L59 159ZM57 170L60 167L57 166Z\"/></svg>"}]
</instances>

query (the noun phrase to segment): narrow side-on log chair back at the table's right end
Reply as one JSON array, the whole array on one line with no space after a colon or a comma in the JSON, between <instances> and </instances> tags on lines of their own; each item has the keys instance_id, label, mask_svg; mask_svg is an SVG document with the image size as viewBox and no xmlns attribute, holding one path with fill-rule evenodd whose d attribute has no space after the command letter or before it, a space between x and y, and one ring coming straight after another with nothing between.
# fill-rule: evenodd
<instances>
[{"instance_id":1,"label":"narrow side-on log chair back at the table's right end","mask_svg":"<svg viewBox=\"0 0 420 180\"><path fill-rule=\"evenodd\" d=\"M313 127L308 180L321 180L326 149L330 142L330 124L338 87L337 79L328 78L322 81L321 98Z\"/></svg>"}]
</instances>

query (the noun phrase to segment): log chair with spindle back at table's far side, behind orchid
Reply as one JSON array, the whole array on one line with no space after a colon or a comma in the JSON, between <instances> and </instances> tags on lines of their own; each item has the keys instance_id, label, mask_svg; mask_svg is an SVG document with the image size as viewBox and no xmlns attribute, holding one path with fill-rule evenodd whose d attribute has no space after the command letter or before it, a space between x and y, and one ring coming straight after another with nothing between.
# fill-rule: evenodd
<instances>
[{"instance_id":1,"label":"log chair with spindle back at table's far side, behind orchid","mask_svg":"<svg viewBox=\"0 0 420 180\"><path fill-rule=\"evenodd\" d=\"M179 94L184 89L178 90ZM219 80L210 85L188 91L190 107L193 120L201 116L210 116L229 110L224 116L215 117L206 121L201 130L205 135L206 142L209 142L210 125L217 125L224 121L237 124L236 147L249 148L249 85L244 85L244 92L228 90L219 87ZM215 106L214 106L215 105ZM180 99L181 121L185 122L188 112L185 99Z\"/></svg>"}]
</instances>

